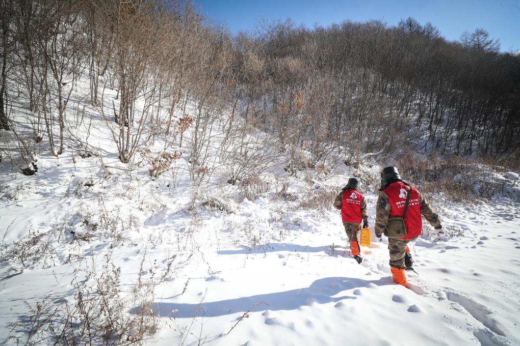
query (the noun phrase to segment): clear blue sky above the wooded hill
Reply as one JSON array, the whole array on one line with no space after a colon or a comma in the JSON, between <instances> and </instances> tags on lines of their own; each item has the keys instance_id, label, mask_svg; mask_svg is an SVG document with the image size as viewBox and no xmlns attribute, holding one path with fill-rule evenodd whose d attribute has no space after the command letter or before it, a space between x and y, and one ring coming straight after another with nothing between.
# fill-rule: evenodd
<instances>
[{"instance_id":1,"label":"clear blue sky above the wooded hill","mask_svg":"<svg viewBox=\"0 0 520 346\"><path fill-rule=\"evenodd\" d=\"M250 30L258 20L291 18L312 27L328 26L345 19L366 21L381 19L395 25L409 16L421 24L437 26L441 34L459 39L467 30L486 29L500 39L501 50L520 49L520 0L193 0L202 14L218 22L225 21L231 32Z\"/></svg>"}]
</instances>

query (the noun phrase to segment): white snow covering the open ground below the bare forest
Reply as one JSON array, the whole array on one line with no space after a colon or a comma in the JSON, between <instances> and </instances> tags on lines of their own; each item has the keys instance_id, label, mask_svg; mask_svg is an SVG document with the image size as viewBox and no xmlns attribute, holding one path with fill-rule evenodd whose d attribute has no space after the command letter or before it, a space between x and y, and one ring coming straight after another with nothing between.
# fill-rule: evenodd
<instances>
[{"instance_id":1,"label":"white snow covering the open ground below the bare forest","mask_svg":"<svg viewBox=\"0 0 520 346\"><path fill-rule=\"evenodd\" d=\"M411 245L418 274L407 272L407 289L392 281L384 237L372 233L358 265L332 200L316 202L340 191L348 168L308 181L274 167L254 200L223 176L195 193L185 157L157 179L146 166L121 170L105 122L92 126L100 157L46 152L29 177L0 164L0 342L27 339L37 302L73 303L88 270L110 262L129 294L140 273L159 280L172 261L153 289L159 328L146 344L520 344L518 174L500 176L508 196L438 198L447 238L425 225ZM367 191L373 229L377 195Z\"/></svg>"}]
</instances>

